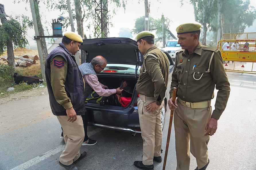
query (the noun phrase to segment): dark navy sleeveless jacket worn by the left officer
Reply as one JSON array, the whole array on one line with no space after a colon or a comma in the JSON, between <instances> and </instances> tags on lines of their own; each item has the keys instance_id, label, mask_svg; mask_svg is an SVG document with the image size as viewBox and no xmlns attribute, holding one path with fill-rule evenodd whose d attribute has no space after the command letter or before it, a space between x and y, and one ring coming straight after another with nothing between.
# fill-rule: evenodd
<instances>
[{"instance_id":1,"label":"dark navy sleeveless jacket worn by the left officer","mask_svg":"<svg viewBox=\"0 0 256 170\"><path fill-rule=\"evenodd\" d=\"M52 112L56 116L67 116L65 108L55 100L53 89L51 86L51 61L56 56L62 56L67 62L67 76L64 83L67 96L71 99L71 103L76 114L85 114L83 77L75 62L75 57L67 50L67 48L62 43L60 43L58 47L53 49L53 51L48 55L45 62L46 83L49 92Z\"/></svg>"}]
</instances>

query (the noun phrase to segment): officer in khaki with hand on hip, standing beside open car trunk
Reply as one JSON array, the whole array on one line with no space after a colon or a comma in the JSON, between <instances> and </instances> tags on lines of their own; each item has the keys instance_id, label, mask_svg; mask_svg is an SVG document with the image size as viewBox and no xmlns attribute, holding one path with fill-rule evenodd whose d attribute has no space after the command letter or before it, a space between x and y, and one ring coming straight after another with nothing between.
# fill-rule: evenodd
<instances>
[{"instance_id":1,"label":"officer in khaki with hand on hip, standing beside open car trunk","mask_svg":"<svg viewBox=\"0 0 256 170\"><path fill-rule=\"evenodd\" d=\"M144 55L137 81L138 111L143 139L142 161L135 161L139 169L154 169L154 161L161 162L161 109L168 84L169 60L154 45L154 34L142 31L136 36L139 51Z\"/></svg>"}]
</instances>

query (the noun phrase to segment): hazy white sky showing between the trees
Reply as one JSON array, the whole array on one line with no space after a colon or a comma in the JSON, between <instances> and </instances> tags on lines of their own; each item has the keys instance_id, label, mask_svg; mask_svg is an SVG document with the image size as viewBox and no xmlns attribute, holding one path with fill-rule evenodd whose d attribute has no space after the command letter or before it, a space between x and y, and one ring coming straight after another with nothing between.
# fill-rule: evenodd
<instances>
[{"instance_id":1,"label":"hazy white sky showing between the trees","mask_svg":"<svg viewBox=\"0 0 256 170\"><path fill-rule=\"evenodd\" d=\"M16 0L18 1L18 0ZM21 0L22 1L22 0ZM25 0L26 1L26 0ZM65 1L65 0L63 0ZM73 0L70 0L73 1ZM120 0L121 1L121 0ZM160 18L162 14L165 17L168 17L172 22L170 23L170 31L176 35L175 29L181 23L187 22L195 22L194 19L194 11L193 6L190 3L187 3L188 0L185 0L184 5L181 7L180 0L149 0L150 2L150 16L153 18ZM30 5L29 3L21 2L21 3L13 3L13 0L0 0L1 4L5 5L5 12L8 15L27 15L32 19ZM256 7L256 0L251 0L251 5ZM144 10L144 1L138 3L138 0L128 0L128 4L126 6L126 10L123 8L116 9L114 5L109 4L108 10L111 11L115 8L116 15L113 15L111 22L113 26L109 28L110 37L118 37L119 29L129 28L133 29L135 25L135 19L141 17L145 14ZM27 9L27 10L26 10ZM46 5L40 3L40 13L41 19L44 28L47 26L49 29L49 33L52 34L51 22L52 19L56 19L61 15L59 11L56 10L48 10ZM68 13L66 14L68 15ZM65 16L64 16L65 17ZM48 22L48 23L47 23ZM94 28L94 23L84 23L84 29L86 29L86 24L92 24L91 27ZM75 23L76 29L76 23ZM71 31L71 27L67 29L67 31ZM89 34L87 30L84 30L86 35ZM30 37L34 37L34 30L29 29L28 35ZM36 44L36 41L28 38L30 45L33 46Z\"/></svg>"}]
</instances>

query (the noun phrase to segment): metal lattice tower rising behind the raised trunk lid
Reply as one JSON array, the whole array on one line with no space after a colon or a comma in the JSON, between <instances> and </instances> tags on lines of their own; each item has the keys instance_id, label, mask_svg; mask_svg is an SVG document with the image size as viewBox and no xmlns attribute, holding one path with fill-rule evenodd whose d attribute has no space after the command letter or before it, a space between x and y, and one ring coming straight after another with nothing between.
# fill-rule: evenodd
<instances>
[{"instance_id":1,"label":"metal lattice tower rising behind the raised trunk lid","mask_svg":"<svg viewBox=\"0 0 256 170\"><path fill-rule=\"evenodd\" d=\"M108 29L108 0L95 0L94 37L109 37Z\"/></svg>"}]
</instances>

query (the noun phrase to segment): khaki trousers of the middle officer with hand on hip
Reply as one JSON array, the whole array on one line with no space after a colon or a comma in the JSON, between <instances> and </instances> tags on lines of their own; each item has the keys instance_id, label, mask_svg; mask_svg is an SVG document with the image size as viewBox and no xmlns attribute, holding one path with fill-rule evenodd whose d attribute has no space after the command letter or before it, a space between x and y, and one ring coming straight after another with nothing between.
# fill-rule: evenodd
<instances>
[{"instance_id":1,"label":"khaki trousers of the middle officer with hand on hip","mask_svg":"<svg viewBox=\"0 0 256 170\"><path fill-rule=\"evenodd\" d=\"M162 146L162 129L161 129L161 109L162 105L153 113L146 112L145 107L155 102L154 97L139 95L138 112L141 137L143 139L143 158L144 165L152 165L153 158L159 157Z\"/></svg>"}]
</instances>

